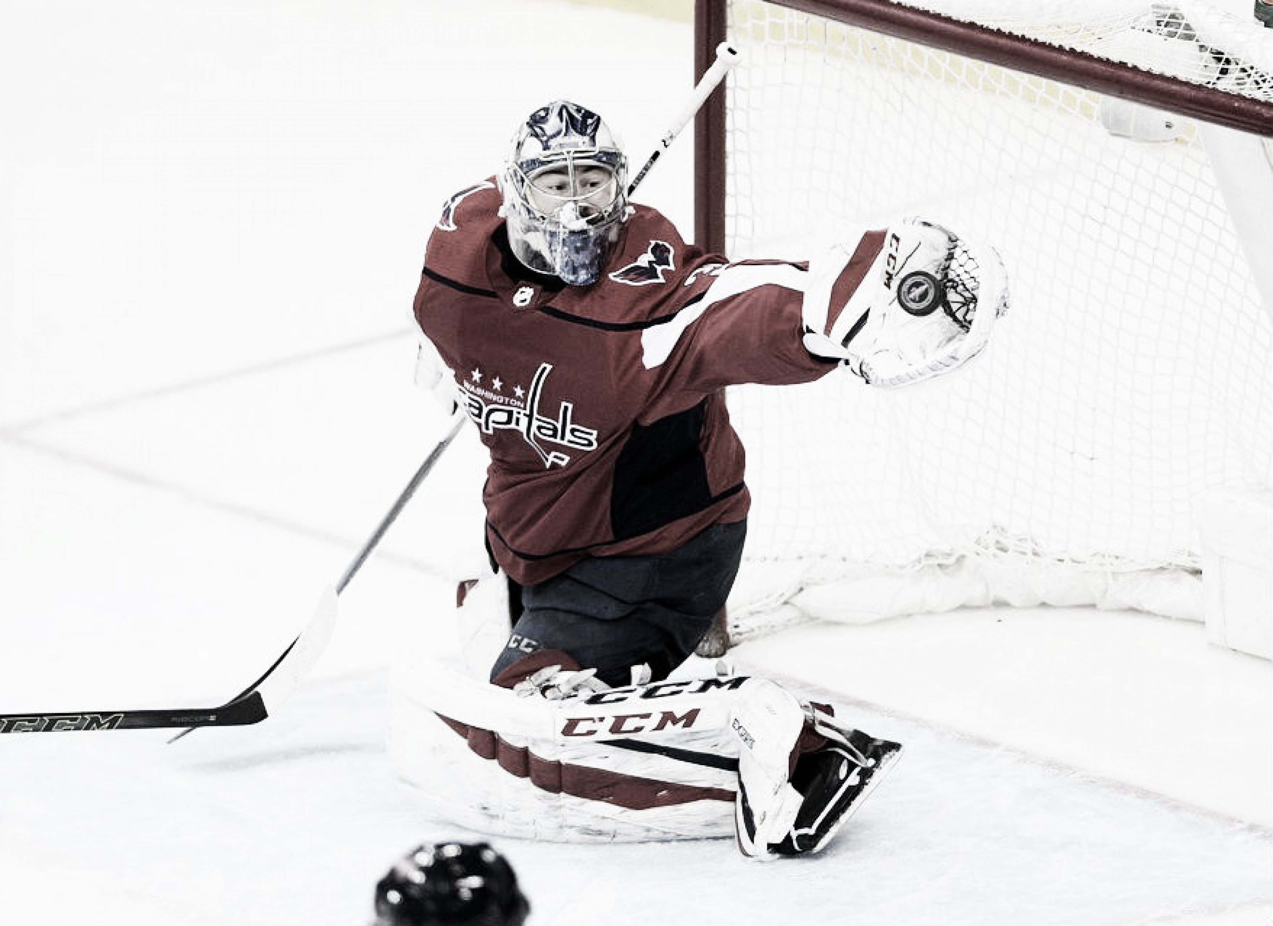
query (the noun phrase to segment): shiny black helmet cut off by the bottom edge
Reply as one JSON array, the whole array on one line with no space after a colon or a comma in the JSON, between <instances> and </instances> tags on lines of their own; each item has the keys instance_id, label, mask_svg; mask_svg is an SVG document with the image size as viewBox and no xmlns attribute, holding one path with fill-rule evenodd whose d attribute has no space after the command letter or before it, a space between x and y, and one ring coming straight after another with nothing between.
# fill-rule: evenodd
<instances>
[{"instance_id":1,"label":"shiny black helmet cut off by the bottom edge","mask_svg":"<svg viewBox=\"0 0 1273 926\"><path fill-rule=\"evenodd\" d=\"M522 926L531 906L485 842L439 842L404 856L376 885L374 926Z\"/></svg>"}]
</instances>

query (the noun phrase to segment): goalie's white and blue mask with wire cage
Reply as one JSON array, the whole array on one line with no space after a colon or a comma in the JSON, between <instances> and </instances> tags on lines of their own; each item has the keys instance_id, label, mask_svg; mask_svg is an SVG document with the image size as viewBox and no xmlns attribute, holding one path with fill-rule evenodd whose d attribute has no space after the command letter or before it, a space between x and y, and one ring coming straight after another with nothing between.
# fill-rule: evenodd
<instances>
[{"instance_id":1,"label":"goalie's white and blue mask with wire cage","mask_svg":"<svg viewBox=\"0 0 1273 926\"><path fill-rule=\"evenodd\" d=\"M628 159L597 113L566 100L532 112L500 187L517 259L572 286L597 281L628 218Z\"/></svg>"}]
</instances>

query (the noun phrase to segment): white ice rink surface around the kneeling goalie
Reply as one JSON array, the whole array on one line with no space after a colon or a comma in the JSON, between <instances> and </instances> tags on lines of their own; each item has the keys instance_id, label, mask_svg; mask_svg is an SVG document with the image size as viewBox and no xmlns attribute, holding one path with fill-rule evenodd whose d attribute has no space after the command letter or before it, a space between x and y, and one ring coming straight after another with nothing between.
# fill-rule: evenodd
<instances>
[{"instance_id":1,"label":"white ice rink surface around the kneeling goalie","mask_svg":"<svg viewBox=\"0 0 1273 926\"><path fill-rule=\"evenodd\" d=\"M546 98L635 156L687 23L528 0L0 0L0 714L209 706L308 621L437 439L410 300L454 188ZM644 186L689 234L691 144ZM435 838L387 667L480 530L471 436L258 726L0 738L0 922L365 923ZM1273 665L1139 614L750 642L908 754L822 856L499 841L546 923L1273 917Z\"/></svg>"}]
</instances>

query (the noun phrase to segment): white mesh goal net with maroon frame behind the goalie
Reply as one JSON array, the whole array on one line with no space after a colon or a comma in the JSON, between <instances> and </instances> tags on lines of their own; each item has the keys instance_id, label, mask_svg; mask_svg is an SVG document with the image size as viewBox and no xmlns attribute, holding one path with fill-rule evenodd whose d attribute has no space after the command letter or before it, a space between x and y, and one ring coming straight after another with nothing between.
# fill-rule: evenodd
<instances>
[{"instance_id":1,"label":"white mesh goal net with maroon frame behind the goalie","mask_svg":"<svg viewBox=\"0 0 1273 926\"><path fill-rule=\"evenodd\" d=\"M989 603L1200 619L1197 496L1273 486L1250 226L1273 228L1273 29L1188 3L941 9L699 4L700 62L743 55L699 122L700 243L799 259L918 215L1009 279L950 377L732 390L755 497L735 640Z\"/></svg>"}]
</instances>

